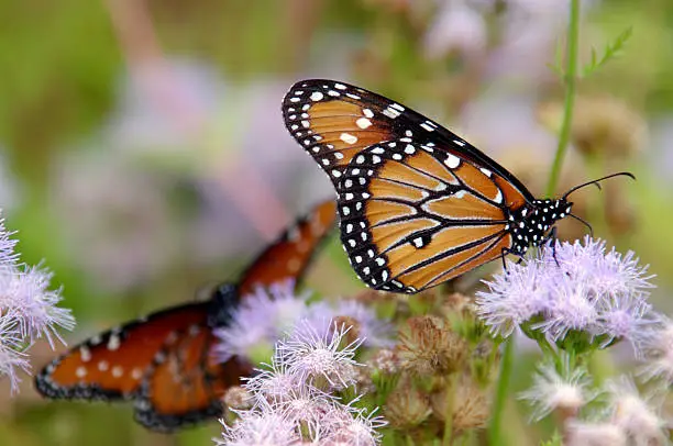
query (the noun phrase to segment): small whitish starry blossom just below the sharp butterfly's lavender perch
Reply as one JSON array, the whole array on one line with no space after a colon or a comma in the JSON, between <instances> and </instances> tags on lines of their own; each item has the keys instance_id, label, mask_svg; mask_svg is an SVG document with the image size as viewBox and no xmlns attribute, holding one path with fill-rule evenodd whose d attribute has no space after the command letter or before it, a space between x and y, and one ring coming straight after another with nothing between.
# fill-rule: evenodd
<instances>
[{"instance_id":1,"label":"small whitish starry blossom just below the sharp butterfly's lavender perch","mask_svg":"<svg viewBox=\"0 0 673 446\"><path fill-rule=\"evenodd\" d=\"M533 408L532 420L539 421L555 410L574 415L596 397L589 389L592 380L584 368L571 369L567 357L562 367L559 372L552 363L541 365L533 377L533 386L519 395Z\"/></svg>"}]
</instances>

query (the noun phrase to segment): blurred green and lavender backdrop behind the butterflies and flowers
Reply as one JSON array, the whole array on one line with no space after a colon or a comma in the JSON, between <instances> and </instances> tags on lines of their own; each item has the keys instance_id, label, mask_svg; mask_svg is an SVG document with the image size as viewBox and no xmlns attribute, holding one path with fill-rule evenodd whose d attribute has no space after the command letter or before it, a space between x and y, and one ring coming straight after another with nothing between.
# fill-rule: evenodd
<instances>
[{"instance_id":1,"label":"blurred green and lavender backdrop behind the butterflies and flowers","mask_svg":"<svg viewBox=\"0 0 673 446\"><path fill-rule=\"evenodd\" d=\"M580 83L561 189L637 175L575 197L596 235L652 265L668 312L673 3L583 3L584 60L629 26L633 35ZM63 285L75 343L235 279L296 213L333 193L283 126L280 99L300 78L412 105L540 193L561 116L549 65L562 58L566 10L562 0L0 1L0 208L23 259L45 259ZM308 285L360 289L344 263L332 243ZM32 353L35 367L54 355ZM0 382L2 445L206 445L217 434L217 424L152 434L128 404L46 402L29 378L10 399Z\"/></svg>"}]
</instances>

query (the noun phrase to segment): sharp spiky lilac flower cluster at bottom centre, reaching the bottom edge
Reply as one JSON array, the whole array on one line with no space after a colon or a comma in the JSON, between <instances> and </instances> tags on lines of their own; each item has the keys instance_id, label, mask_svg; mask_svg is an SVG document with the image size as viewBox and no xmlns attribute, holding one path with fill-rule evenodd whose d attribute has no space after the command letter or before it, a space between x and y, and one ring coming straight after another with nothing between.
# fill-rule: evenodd
<instances>
[{"instance_id":1,"label":"sharp spiky lilac flower cluster at bottom centre, reaching the bottom edge","mask_svg":"<svg viewBox=\"0 0 673 446\"><path fill-rule=\"evenodd\" d=\"M355 383L354 360L361 339L349 343L351 327L333 324L323 332L301 321L278 342L272 364L249 379L251 409L232 410L236 420L222 422L220 445L377 445L375 411L344 404L334 392Z\"/></svg>"}]
</instances>

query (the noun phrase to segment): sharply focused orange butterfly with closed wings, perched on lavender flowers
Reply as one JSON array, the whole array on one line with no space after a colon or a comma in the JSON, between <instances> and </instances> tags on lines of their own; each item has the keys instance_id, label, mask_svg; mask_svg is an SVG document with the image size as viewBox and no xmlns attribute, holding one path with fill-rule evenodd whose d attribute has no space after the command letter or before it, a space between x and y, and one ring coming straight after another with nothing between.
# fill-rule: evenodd
<instances>
[{"instance_id":1,"label":"sharply focused orange butterfly with closed wings, perched on lavender flowers","mask_svg":"<svg viewBox=\"0 0 673 446\"><path fill-rule=\"evenodd\" d=\"M416 293L554 237L573 191L539 200L460 136L344 82L295 83L285 125L336 189L341 241L369 287ZM586 224L586 222L582 221Z\"/></svg>"}]
</instances>

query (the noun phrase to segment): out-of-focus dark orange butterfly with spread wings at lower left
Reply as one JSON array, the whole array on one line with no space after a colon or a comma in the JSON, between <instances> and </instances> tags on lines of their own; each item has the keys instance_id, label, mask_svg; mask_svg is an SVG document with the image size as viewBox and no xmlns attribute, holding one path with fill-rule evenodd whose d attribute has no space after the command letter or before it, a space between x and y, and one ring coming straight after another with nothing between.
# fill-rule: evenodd
<instances>
[{"instance_id":1,"label":"out-of-focus dark orange butterfly with spread wings at lower left","mask_svg":"<svg viewBox=\"0 0 673 446\"><path fill-rule=\"evenodd\" d=\"M42 369L37 391L51 399L131 400L135 420L162 432L218 416L224 391L252 368L239 357L218 364L213 330L225 326L256 287L300 279L335 218L334 202L326 201L268 246L238 285L85 341Z\"/></svg>"}]
</instances>

